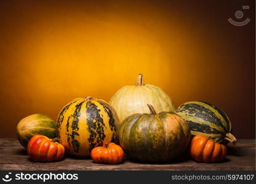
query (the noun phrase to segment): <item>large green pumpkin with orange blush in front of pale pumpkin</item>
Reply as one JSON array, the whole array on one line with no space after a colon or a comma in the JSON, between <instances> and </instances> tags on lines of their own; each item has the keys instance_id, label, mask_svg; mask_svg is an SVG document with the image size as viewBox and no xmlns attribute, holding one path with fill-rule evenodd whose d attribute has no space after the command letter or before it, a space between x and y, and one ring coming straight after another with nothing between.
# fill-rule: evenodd
<instances>
[{"instance_id":1,"label":"large green pumpkin with orange blush in front of pale pumpkin","mask_svg":"<svg viewBox=\"0 0 256 184\"><path fill-rule=\"evenodd\" d=\"M129 158L162 163L182 155L190 142L190 129L176 113L136 113L127 117L119 130L119 142Z\"/></svg>"}]
</instances>

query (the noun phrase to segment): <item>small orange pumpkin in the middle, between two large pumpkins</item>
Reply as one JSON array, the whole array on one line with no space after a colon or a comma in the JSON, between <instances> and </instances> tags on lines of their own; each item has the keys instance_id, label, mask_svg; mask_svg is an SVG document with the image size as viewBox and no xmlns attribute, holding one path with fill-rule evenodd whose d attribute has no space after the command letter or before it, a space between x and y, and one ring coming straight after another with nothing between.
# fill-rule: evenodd
<instances>
[{"instance_id":1,"label":"small orange pumpkin in the middle, between two large pumpkins","mask_svg":"<svg viewBox=\"0 0 256 184\"><path fill-rule=\"evenodd\" d=\"M119 145L111 142L105 147L93 148L90 157L95 163L119 164L124 159L124 151Z\"/></svg>"}]
</instances>

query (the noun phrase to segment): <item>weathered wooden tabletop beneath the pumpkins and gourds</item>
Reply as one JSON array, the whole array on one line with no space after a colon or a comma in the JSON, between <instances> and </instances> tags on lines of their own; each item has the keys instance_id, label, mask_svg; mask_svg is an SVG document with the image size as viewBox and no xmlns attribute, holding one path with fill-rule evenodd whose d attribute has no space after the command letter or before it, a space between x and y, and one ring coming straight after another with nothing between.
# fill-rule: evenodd
<instances>
[{"instance_id":1,"label":"weathered wooden tabletop beneath the pumpkins and gourds","mask_svg":"<svg viewBox=\"0 0 256 184\"><path fill-rule=\"evenodd\" d=\"M14 138L0 139L0 170L255 170L255 140L240 139L228 145L228 155L223 163L196 163L183 158L175 163L142 164L125 159L118 165L95 164L92 159L66 156L55 163L35 163Z\"/></svg>"}]
</instances>

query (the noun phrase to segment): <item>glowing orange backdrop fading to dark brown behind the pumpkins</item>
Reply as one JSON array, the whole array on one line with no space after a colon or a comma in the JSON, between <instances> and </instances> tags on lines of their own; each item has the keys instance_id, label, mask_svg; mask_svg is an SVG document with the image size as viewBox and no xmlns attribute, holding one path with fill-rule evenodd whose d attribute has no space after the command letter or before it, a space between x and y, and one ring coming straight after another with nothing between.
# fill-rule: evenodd
<instances>
[{"instance_id":1,"label":"glowing orange backdrop fading to dark brown behind the pumpkins","mask_svg":"<svg viewBox=\"0 0 256 184\"><path fill-rule=\"evenodd\" d=\"M33 113L56 120L74 98L109 101L142 73L176 107L210 102L254 138L254 3L0 1L1 137ZM230 25L242 5L250 23Z\"/></svg>"}]
</instances>

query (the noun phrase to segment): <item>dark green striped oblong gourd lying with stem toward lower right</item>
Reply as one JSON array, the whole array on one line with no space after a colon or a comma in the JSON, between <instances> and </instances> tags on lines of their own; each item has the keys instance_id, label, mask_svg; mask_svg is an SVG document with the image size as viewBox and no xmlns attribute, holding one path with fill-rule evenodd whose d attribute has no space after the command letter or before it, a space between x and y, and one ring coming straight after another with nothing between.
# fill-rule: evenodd
<instances>
[{"instance_id":1,"label":"dark green striped oblong gourd lying with stem toward lower right","mask_svg":"<svg viewBox=\"0 0 256 184\"><path fill-rule=\"evenodd\" d=\"M207 102L186 102L176 110L188 126L191 135L202 135L211 139L219 139L221 143L236 143L231 134L231 122L225 112Z\"/></svg>"}]
</instances>

